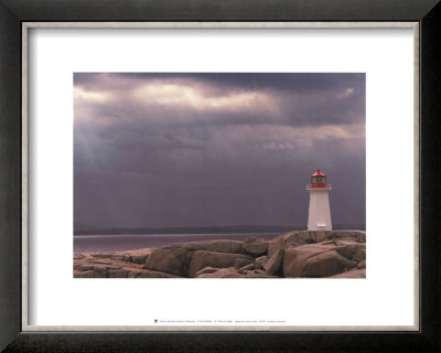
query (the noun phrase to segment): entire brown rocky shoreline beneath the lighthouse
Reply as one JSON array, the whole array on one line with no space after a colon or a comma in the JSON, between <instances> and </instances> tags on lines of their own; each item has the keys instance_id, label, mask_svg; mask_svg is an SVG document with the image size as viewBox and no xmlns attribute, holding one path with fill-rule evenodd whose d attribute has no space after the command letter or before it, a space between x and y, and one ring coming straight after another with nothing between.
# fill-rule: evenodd
<instances>
[{"instance_id":1,"label":"entire brown rocky shoreline beneath the lighthouse","mask_svg":"<svg viewBox=\"0 0 441 353\"><path fill-rule=\"evenodd\" d=\"M366 232L293 231L271 240L179 243L74 254L74 278L365 278Z\"/></svg>"}]
</instances>

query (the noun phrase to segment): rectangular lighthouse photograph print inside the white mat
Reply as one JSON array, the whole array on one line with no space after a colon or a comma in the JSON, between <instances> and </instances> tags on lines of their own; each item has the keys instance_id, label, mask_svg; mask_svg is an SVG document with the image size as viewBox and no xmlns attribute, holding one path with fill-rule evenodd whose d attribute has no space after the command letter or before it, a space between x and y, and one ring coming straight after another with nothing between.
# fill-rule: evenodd
<instances>
[{"instance_id":1,"label":"rectangular lighthouse photograph print inside the white mat","mask_svg":"<svg viewBox=\"0 0 441 353\"><path fill-rule=\"evenodd\" d=\"M74 278L366 278L365 73L74 73Z\"/></svg>"}]
</instances>

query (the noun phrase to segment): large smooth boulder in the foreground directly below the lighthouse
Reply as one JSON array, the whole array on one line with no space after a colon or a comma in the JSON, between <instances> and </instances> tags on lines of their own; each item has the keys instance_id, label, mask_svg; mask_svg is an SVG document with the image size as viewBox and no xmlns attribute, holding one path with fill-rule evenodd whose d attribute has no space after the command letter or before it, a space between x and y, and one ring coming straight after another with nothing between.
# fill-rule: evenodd
<instances>
[{"instance_id":1,"label":"large smooth boulder in the foreground directly below the lighthouse","mask_svg":"<svg viewBox=\"0 0 441 353\"><path fill-rule=\"evenodd\" d=\"M283 275L286 277L329 277L357 265L340 255L335 248L335 245L311 244L286 249Z\"/></svg>"}]
</instances>

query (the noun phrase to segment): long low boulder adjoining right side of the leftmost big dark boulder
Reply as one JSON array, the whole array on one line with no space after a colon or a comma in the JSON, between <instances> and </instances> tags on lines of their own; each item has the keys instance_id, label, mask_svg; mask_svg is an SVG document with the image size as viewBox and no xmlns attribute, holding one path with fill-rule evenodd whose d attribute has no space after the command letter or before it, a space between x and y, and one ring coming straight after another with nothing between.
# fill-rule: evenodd
<instances>
[{"instance_id":1,"label":"long low boulder adjoining right side of the leftmost big dark boulder","mask_svg":"<svg viewBox=\"0 0 441 353\"><path fill-rule=\"evenodd\" d=\"M254 264L254 261L255 257L246 254L226 254L197 250L194 252L192 260L190 261L189 277L195 277L196 272L204 267L227 268L238 266L236 265L238 263L241 263L240 267L243 267L246 265L246 263Z\"/></svg>"}]
</instances>

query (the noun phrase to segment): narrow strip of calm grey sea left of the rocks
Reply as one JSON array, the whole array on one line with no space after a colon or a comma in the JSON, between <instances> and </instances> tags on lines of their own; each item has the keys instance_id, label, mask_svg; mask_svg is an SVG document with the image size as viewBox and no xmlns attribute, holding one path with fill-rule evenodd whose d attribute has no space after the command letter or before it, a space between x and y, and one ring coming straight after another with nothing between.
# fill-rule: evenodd
<instances>
[{"instance_id":1,"label":"narrow strip of calm grey sea left of the rocks","mask_svg":"<svg viewBox=\"0 0 441 353\"><path fill-rule=\"evenodd\" d=\"M214 239L244 240L249 236L272 239L282 233L254 234L122 234L74 236L74 253L106 253L160 247L173 243Z\"/></svg>"}]
</instances>

